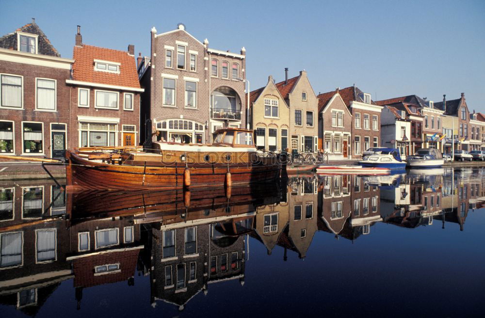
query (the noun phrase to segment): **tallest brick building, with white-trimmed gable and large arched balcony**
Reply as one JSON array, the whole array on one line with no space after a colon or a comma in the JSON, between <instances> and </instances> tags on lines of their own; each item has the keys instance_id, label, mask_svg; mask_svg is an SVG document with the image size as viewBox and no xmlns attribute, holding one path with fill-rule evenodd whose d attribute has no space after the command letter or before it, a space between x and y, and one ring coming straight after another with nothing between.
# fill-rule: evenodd
<instances>
[{"instance_id":1,"label":"tallest brick building, with white-trimmed gable and large arched balcony","mask_svg":"<svg viewBox=\"0 0 485 318\"><path fill-rule=\"evenodd\" d=\"M183 24L161 34L152 28L150 58L138 65L140 82L149 90L142 97L145 134L210 143L219 128L245 127L245 55L244 48L240 54L209 48L207 39L200 42Z\"/></svg>"}]
</instances>

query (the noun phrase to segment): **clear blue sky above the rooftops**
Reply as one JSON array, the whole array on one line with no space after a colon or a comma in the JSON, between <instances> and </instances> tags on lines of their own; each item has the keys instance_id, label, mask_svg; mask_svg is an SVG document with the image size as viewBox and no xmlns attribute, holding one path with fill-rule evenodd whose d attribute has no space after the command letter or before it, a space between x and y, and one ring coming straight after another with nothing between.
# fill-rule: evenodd
<instances>
[{"instance_id":1,"label":"clear blue sky above the rooftops","mask_svg":"<svg viewBox=\"0 0 485 318\"><path fill-rule=\"evenodd\" d=\"M179 3L179 4L177 4ZM316 94L354 83L377 100L464 92L485 112L485 1L0 0L0 34L36 23L63 57L85 44L149 55L150 29L177 23L211 48L247 54L251 90L306 69Z\"/></svg>"}]
</instances>

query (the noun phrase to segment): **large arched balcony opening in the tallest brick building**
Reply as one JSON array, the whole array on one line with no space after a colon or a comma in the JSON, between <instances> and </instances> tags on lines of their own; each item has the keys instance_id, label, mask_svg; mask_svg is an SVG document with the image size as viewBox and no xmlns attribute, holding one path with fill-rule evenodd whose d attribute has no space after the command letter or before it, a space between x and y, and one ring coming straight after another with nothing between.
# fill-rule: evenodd
<instances>
[{"instance_id":1,"label":"large arched balcony opening in the tallest brick building","mask_svg":"<svg viewBox=\"0 0 485 318\"><path fill-rule=\"evenodd\" d=\"M212 118L241 119L241 99L232 88L222 86L210 95Z\"/></svg>"}]
</instances>

